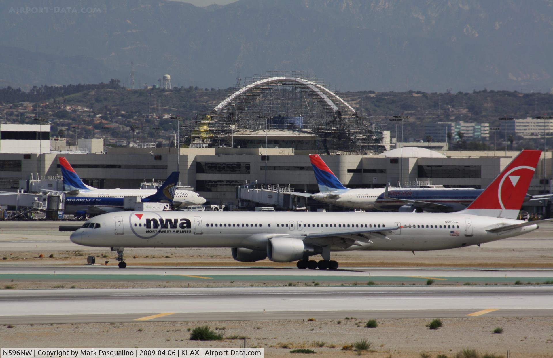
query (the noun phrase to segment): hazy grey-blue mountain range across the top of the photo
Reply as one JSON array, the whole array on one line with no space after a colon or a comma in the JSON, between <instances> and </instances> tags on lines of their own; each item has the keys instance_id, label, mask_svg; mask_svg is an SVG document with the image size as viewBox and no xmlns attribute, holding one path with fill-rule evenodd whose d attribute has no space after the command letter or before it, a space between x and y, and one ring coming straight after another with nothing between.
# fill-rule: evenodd
<instances>
[{"instance_id":1,"label":"hazy grey-blue mountain range across the top of the photo","mask_svg":"<svg viewBox=\"0 0 553 358\"><path fill-rule=\"evenodd\" d=\"M0 87L227 88L306 71L341 91L553 88L549 0L5 0Z\"/></svg>"}]
</instances>

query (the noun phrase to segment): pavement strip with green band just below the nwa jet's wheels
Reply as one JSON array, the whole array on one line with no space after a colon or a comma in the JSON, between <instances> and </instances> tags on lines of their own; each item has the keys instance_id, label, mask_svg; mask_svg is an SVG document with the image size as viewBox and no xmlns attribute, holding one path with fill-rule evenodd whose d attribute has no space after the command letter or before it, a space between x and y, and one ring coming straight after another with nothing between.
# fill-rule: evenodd
<instances>
[{"instance_id":1,"label":"pavement strip with green band just below the nwa jet's wheels","mask_svg":"<svg viewBox=\"0 0 553 358\"><path fill-rule=\"evenodd\" d=\"M368 281L386 285L425 283L458 285L513 284L517 281L553 281L552 269L482 269L482 268L340 268L298 270L296 268L228 268L228 267L127 267L114 266L0 266L0 281L206 281L206 282L326 282L339 285Z\"/></svg>"}]
</instances>

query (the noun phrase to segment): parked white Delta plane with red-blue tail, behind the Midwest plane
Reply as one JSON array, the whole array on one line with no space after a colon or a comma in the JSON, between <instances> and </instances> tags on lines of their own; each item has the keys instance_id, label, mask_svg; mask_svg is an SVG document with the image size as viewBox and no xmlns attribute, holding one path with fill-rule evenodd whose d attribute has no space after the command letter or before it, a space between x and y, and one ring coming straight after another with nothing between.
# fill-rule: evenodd
<instances>
[{"instance_id":1,"label":"parked white Delta plane with red-blue tail, behind the Midwest plane","mask_svg":"<svg viewBox=\"0 0 553 358\"><path fill-rule=\"evenodd\" d=\"M123 198L137 196L146 198L155 195L157 192L156 189L97 189L83 183L65 157L59 157L59 161L61 175L64 177L64 189L70 191L70 194L76 197ZM169 190L174 191L174 193L166 193L166 196L173 196L173 202L177 204L176 206L202 205L206 202L206 199L201 197L200 194L190 190L178 189L175 185L171 186Z\"/></svg>"}]
</instances>

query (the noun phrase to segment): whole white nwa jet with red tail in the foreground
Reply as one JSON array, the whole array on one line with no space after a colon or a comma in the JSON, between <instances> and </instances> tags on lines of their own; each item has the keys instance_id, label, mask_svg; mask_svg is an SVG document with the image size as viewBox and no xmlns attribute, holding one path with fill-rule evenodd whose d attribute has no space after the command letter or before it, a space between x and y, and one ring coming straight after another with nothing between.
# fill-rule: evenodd
<instances>
[{"instance_id":1,"label":"whole white nwa jet with red tail in the foreground","mask_svg":"<svg viewBox=\"0 0 553 358\"><path fill-rule=\"evenodd\" d=\"M335 270L332 251L426 251L480 245L538 229L516 220L540 157L524 150L458 213L122 212L98 215L71 234L79 245L124 248L232 248L237 261L268 257L298 268ZM322 260L309 260L321 255Z\"/></svg>"}]
</instances>

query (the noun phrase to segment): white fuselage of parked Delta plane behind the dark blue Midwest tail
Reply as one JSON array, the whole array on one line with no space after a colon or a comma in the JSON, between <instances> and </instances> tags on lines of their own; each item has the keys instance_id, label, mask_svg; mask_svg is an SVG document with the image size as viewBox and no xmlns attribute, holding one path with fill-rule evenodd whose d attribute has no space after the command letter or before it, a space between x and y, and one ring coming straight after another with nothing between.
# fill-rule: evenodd
<instances>
[{"instance_id":1,"label":"white fuselage of parked Delta plane behind the dark blue Midwest tail","mask_svg":"<svg viewBox=\"0 0 553 358\"><path fill-rule=\"evenodd\" d=\"M155 194L156 191L156 189L89 189L79 190L76 196L87 198L124 198L126 196L135 196L143 199ZM202 205L206 202L206 199L196 192L176 189L173 201L187 206Z\"/></svg>"}]
</instances>

